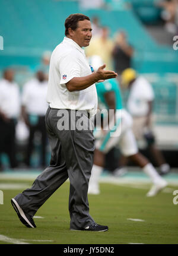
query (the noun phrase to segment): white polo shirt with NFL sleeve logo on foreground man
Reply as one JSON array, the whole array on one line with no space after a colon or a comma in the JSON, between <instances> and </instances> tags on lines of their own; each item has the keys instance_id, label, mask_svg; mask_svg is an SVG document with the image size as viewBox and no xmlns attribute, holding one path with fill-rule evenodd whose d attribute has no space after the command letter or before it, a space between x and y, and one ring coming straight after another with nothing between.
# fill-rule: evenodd
<instances>
[{"instance_id":1,"label":"white polo shirt with NFL sleeve logo on foreground man","mask_svg":"<svg viewBox=\"0 0 178 256\"><path fill-rule=\"evenodd\" d=\"M50 108L88 110L91 116L97 112L95 84L80 91L68 91L66 83L74 77L91 74L84 50L74 40L64 37L56 46L50 59L47 102Z\"/></svg>"}]
</instances>

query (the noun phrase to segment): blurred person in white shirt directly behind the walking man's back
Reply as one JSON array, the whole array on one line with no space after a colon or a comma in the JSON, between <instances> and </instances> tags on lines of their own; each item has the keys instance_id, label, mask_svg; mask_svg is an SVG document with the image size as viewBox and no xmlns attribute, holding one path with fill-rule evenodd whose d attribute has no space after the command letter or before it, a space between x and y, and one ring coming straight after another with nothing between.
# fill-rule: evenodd
<instances>
[{"instance_id":1,"label":"blurred person in white shirt directly behind the walking man's back","mask_svg":"<svg viewBox=\"0 0 178 256\"><path fill-rule=\"evenodd\" d=\"M39 131L42 135L42 166L46 166L47 134L45 127L45 114L48 108L46 101L47 81L43 71L37 71L36 78L24 84L22 94L21 114L29 128L26 165L30 167L31 154L33 152L34 134Z\"/></svg>"}]
</instances>

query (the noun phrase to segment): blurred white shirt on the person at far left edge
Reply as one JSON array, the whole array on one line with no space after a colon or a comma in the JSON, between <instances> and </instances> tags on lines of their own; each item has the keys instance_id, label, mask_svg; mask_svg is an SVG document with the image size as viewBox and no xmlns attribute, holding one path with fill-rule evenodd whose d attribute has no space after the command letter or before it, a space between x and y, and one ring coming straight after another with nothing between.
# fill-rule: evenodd
<instances>
[{"instance_id":1,"label":"blurred white shirt on the person at far left edge","mask_svg":"<svg viewBox=\"0 0 178 256\"><path fill-rule=\"evenodd\" d=\"M20 113L20 91L18 84L0 81L0 110L8 118L17 118Z\"/></svg>"}]
</instances>

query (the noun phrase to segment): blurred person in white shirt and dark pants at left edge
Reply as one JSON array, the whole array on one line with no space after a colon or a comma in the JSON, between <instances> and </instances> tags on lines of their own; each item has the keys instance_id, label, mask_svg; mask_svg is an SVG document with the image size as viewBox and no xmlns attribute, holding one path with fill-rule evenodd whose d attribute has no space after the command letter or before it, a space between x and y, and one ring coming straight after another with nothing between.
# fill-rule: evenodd
<instances>
[{"instance_id":1,"label":"blurred person in white shirt and dark pants at left edge","mask_svg":"<svg viewBox=\"0 0 178 256\"><path fill-rule=\"evenodd\" d=\"M15 125L19 113L20 91L18 84L14 82L14 71L5 69L0 81L0 153L7 153L11 168L17 167Z\"/></svg>"}]
</instances>

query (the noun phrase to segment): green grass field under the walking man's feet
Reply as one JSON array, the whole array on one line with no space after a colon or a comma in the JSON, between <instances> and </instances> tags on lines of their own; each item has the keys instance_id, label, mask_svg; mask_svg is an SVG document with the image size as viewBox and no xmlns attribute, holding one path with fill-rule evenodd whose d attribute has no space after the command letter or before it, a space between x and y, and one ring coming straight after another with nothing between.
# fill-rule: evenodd
<instances>
[{"instance_id":1,"label":"green grass field under the walking man's feet","mask_svg":"<svg viewBox=\"0 0 178 256\"><path fill-rule=\"evenodd\" d=\"M1 179L2 184L18 186L0 186L4 192L4 204L0 204L0 244L178 244L178 204L173 204L176 185L169 185L169 192L147 198L149 183L138 187L101 183L101 194L88 196L90 214L97 223L108 225L109 231L82 232L69 230L69 182L37 211L36 216L43 218L34 219L36 229L25 227L10 203L32 181Z\"/></svg>"}]
</instances>

